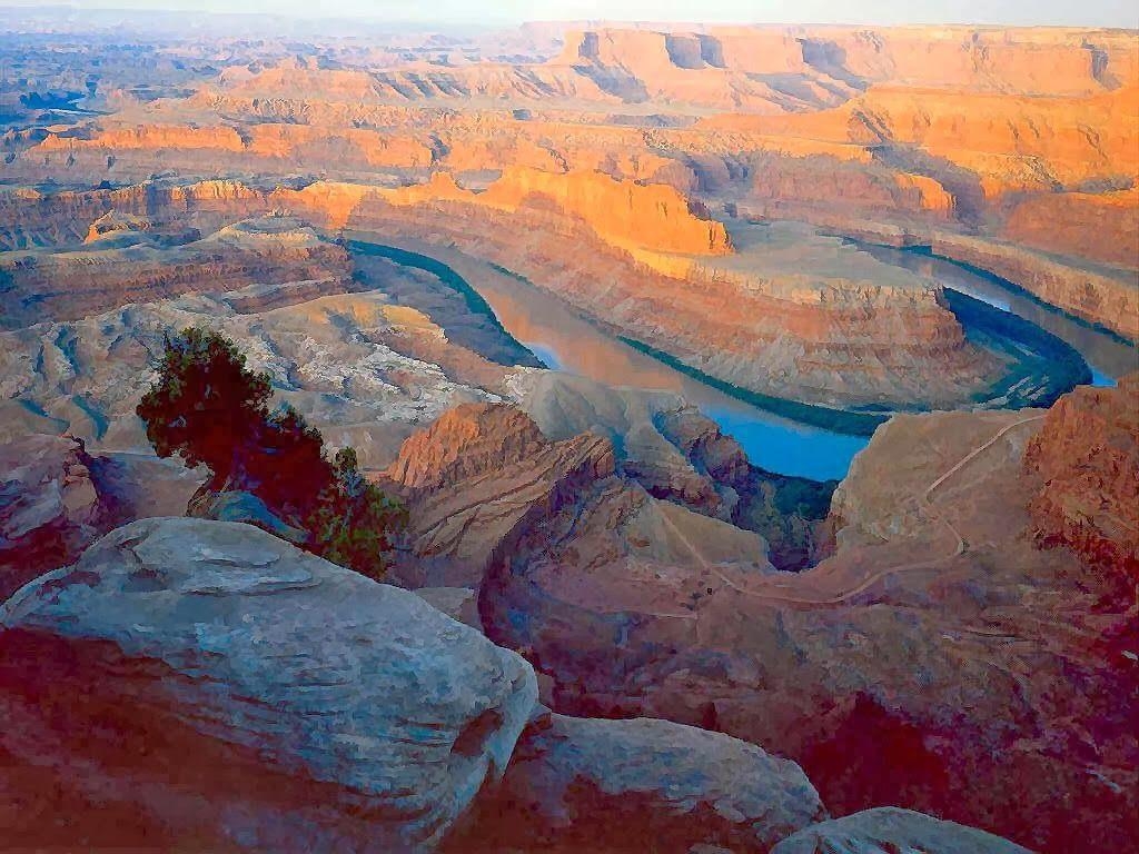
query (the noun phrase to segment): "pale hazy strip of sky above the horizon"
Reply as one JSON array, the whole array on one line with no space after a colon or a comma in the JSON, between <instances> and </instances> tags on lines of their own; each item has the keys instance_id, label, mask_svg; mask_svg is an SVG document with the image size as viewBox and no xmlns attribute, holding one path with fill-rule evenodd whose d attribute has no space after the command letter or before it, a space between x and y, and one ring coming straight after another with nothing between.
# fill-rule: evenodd
<instances>
[{"instance_id":1,"label":"pale hazy strip of sky above the horizon","mask_svg":"<svg viewBox=\"0 0 1139 854\"><path fill-rule=\"evenodd\" d=\"M50 2L50 0L49 0ZM0 6L43 0L0 0ZM73 0L75 8L244 11L393 20L1073 24L1139 27L1137 0Z\"/></svg>"}]
</instances>

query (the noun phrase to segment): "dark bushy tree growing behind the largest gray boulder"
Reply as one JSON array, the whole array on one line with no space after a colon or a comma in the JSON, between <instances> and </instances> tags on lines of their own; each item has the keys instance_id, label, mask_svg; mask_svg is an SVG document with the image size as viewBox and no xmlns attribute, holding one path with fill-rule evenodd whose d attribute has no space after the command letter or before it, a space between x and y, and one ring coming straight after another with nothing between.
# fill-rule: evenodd
<instances>
[{"instance_id":1,"label":"dark bushy tree growing behind the largest gray boulder","mask_svg":"<svg viewBox=\"0 0 1139 854\"><path fill-rule=\"evenodd\" d=\"M369 484L351 447L325 457L323 438L293 407L269 411L269 376L246 368L232 342L200 328L166 336L158 380L138 407L159 457L210 469L214 492L249 492L309 532L309 548L380 577L403 507Z\"/></svg>"}]
</instances>

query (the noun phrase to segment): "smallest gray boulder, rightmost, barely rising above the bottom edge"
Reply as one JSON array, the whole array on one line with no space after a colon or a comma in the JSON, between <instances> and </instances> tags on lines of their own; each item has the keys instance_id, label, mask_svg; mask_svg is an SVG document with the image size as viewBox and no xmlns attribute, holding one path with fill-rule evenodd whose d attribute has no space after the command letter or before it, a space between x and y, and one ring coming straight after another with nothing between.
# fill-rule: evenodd
<instances>
[{"instance_id":1,"label":"smallest gray boulder, rightmost, barely rising above the bottom edge","mask_svg":"<svg viewBox=\"0 0 1139 854\"><path fill-rule=\"evenodd\" d=\"M976 828L884 806L801 830L771 854L1031 854Z\"/></svg>"}]
</instances>

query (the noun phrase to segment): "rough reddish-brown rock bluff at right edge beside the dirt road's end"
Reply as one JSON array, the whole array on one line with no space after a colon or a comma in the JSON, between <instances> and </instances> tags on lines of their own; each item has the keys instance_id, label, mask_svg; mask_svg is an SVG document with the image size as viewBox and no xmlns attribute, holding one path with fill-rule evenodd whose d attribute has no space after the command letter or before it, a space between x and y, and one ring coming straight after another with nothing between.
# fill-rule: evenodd
<instances>
[{"instance_id":1,"label":"rough reddish-brown rock bluff at right edge beside the dirt road's end","mask_svg":"<svg viewBox=\"0 0 1139 854\"><path fill-rule=\"evenodd\" d=\"M1062 397L1024 466L1044 481L1029 506L1038 541L1139 578L1139 373Z\"/></svg>"}]
</instances>

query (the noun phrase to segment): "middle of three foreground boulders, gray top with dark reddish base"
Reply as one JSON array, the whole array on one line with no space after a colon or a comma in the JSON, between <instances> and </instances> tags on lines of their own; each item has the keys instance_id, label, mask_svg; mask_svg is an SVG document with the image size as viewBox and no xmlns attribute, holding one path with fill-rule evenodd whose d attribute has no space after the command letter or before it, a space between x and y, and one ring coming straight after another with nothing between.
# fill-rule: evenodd
<instances>
[{"instance_id":1,"label":"middle of three foreground boulders, gray top with dark reddish base","mask_svg":"<svg viewBox=\"0 0 1139 854\"><path fill-rule=\"evenodd\" d=\"M746 741L652 718L544 715L454 849L765 852L825 815L798 765Z\"/></svg>"}]
</instances>

